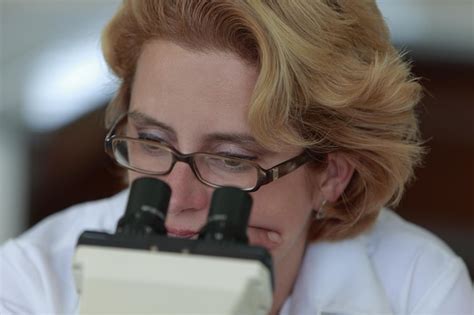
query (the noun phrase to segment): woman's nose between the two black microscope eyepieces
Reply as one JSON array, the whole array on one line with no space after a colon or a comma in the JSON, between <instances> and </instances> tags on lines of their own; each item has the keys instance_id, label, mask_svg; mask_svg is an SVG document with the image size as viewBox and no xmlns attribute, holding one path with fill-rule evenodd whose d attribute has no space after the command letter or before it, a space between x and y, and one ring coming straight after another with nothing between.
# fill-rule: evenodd
<instances>
[{"instance_id":1,"label":"woman's nose between the two black microscope eyepieces","mask_svg":"<svg viewBox=\"0 0 474 315\"><path fill-rule=\"evenodd\" d=\"M194 175L191 167L177 162L172 171L162 179L171 187L171 199L168 207L168 218L183 216L199 217L205 220L209 205L211 188L201 183ZM203 217L202 219L200 217ZM167 222L171 224L172 222ZM201 224L202 222L199 222ZM197 225L197 222L187 224Z\"/></svg>"}]
</instances>

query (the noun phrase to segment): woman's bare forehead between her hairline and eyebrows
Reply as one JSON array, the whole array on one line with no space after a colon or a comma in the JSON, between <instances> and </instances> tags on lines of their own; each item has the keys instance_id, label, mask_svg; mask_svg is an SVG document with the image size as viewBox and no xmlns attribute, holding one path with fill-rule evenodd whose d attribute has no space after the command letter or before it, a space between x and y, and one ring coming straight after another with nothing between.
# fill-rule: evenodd
<instances>
[{"instance_id":1,"label":"woman's bare forehead between her hairline and eyebrows","mask_svg":"<svg viewBox=\"0 0 474 315\"><path fill-rule=\"evenodd\" d=\"M257 76L256 67L236 55L152 41L138 59L130 110L177 132L248 132L247 109Z\"/></svg>"}]
</instances>

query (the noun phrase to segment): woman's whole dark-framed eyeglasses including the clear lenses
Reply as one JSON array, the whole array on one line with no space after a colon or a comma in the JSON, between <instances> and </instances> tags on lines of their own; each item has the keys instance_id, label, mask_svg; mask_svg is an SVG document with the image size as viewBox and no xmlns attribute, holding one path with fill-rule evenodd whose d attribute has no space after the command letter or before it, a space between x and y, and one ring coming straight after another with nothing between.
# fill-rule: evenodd
<instances>
[{"instance_id":1,"label":"woman's whole dark-framed eyeglasses including the clear lenses","mask_svg":"<svg viewBox=\"0 0 474 315\"><path fill-rule=\"evenodd\" d=\"M210 187L233 186L256 191L296 170L313 158L305 151L269 169L242 158L204 152L183 154L155 140L116 135L117 126L128 114L120 116L105 137L105 150L115 162L129 170L155 176L167 175L176 162L188 164L196 178Z\"/></svg>"}]
</instances>

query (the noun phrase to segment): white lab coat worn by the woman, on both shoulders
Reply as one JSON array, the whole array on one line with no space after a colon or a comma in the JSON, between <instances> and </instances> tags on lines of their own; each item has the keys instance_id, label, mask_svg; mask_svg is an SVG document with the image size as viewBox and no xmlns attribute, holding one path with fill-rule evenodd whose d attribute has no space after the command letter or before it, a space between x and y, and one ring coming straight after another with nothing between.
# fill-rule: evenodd
<instances>
[{"instance_id":1,"label":"white lab coat worn by the woman, on both shoulders","mask_svg":"<svg viewBox=\"0 0 474 315\"><path fill-rule=\"evenodd\" d=\"M84 230L113 233L128 191L73 206L0 247L0 314L77 314L72 274ZM363 235L308 247L281 315L473 315L472 283L444 243L390 210Z\"/></svg>"}]
</instances>

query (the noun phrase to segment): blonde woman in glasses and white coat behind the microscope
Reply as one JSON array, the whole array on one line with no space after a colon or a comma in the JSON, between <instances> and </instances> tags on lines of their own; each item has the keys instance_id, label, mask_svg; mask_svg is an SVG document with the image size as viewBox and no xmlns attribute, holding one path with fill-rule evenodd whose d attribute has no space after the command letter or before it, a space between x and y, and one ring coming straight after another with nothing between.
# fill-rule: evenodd
<instances>
[{"instance_id":1,"label":"blonde woman in glasses and white coat behind the microscope","mask_svg":"<svg viewBox=\"0 0 474 315\"><path fill-rule=\"evenodd\" d=\"M463 262L383 209L420 161L421 88L373 1L125 1L103 47L121 79L107 124L132 138L109 153L130 182L171 186L170 236L196 235L215 187L252 191L250 243L275 267L270 314L472 312ZM123 155L144 144L160 155ZM173 165L182 154L194 162ZM5 244L0 310L77 312L77 237L113 232L126 197Z\"/></svg>"}]
</instances>

